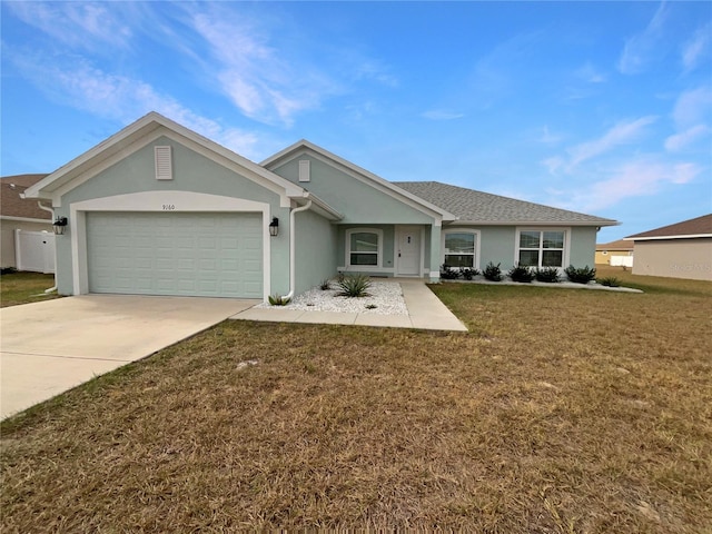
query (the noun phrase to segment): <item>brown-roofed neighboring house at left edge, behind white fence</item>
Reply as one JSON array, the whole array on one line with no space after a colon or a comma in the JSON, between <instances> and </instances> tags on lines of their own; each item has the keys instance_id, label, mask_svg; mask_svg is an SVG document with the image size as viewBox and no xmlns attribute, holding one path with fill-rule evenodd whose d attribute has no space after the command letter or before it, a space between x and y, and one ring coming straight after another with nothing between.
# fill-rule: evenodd
<instances>
[{"instance_id":1,"label":"brown-roofed neighboring house at left edge, behind white fence","mask_svg":"<svg viewBox=\"0 0 712 534\"><path fill-rule=\"evenodd\" d=\"M21 197L28 187L33 186L46 176L18 175L0 178L1 267L18 267L18 258L16 257L16 247L19 246L16 241L17 230L23 233L52 233L52 214L41 209L37 205L37 199L23 199ZM29 246L33 247L33 244ZM41 240L39 246L41 246ZM41 256L41 251L38 254L37 250L28 250L27 245L24 251L32 256Z\"/></svg>"}]
</instances>

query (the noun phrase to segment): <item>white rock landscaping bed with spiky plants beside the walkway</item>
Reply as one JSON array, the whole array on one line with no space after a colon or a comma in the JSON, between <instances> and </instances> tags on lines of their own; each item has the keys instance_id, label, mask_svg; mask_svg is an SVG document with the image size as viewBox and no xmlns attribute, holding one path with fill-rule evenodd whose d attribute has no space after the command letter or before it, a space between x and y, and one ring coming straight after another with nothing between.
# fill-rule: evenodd
<instances>
[{"instance_id":1,"label":"white rock landscaping bed with spiky plants beside the walkway","mask_svg":"<svg viewBox=\"0 0 712 534\"><path fill-rule=\"evenodd\" d=\"M332 286L336 288L336 283ZM396 281L372 281L369 297L337 297L338 289L322 290L318 287L297 295L286 306L263 303L256 308L299 309L304 312L340 312L374 315L408 315L400 284ZM375 307L374 307L375 306Z\"/></svg>"}]
</instances>

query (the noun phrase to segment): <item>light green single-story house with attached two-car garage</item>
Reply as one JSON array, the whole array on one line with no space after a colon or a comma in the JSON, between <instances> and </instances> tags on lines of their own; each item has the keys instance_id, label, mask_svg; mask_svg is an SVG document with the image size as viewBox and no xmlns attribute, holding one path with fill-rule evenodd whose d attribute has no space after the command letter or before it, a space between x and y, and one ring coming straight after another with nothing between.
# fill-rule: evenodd
<instances>
[{"instance_id":1,"label":"light green single-story house with attached two-car garage","mask_svg":"<svg viewBox=\"0 0 712 534\"><path fill-rule=\"evenodd\" d=\"M67 217L60 294L266 298L337 270L593 265L616 221L438 182L392 184L308 141L255 164L151 112L26 192ZM273 236L273 231L277 234Z\"/></svg>"}]
</instances>

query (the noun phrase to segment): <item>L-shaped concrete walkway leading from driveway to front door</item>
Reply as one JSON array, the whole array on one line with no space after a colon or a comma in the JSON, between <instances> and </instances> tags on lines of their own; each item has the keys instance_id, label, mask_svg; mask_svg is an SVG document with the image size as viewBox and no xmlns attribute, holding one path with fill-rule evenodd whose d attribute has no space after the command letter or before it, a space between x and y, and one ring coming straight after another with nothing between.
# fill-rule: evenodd
<instances>
[{"instance_id":1,"label":"L-shaped concrete walkway leading from driveway to front door","mask_svg":"<svg viewBox=\"0 0 712 534\"><path fill-rule=\"evenodd\" d=\"M447 309L423 280L398 278L397 280L389 279L387 281L400 284L408 315L304 312L275 306L270 308L249 308L230 318L273 323L386 326L392 328L467 332L467 327Z\"/></svg>"}]
</instances>

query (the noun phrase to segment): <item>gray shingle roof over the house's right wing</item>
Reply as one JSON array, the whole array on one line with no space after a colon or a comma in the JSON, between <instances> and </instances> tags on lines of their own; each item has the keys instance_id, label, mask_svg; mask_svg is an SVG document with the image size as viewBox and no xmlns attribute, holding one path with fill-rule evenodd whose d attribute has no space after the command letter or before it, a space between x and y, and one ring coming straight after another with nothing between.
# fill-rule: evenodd
<instances>
[{"instance_id":1,"label":"gray shingle roof over the house's right wing","mask_svg":"<svg viewBox=\"0 0 712 534\"><path fill-rule=\"evenodd\" d=\"M394 185L456 215L463 222L481 225L617 225L617 221L613 219L449 186L439 181L395 181Z\"/></svg>"}]
</instances>

